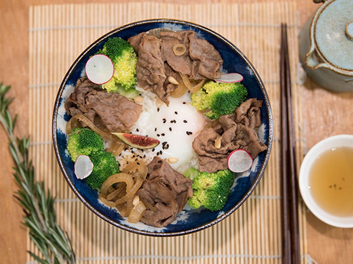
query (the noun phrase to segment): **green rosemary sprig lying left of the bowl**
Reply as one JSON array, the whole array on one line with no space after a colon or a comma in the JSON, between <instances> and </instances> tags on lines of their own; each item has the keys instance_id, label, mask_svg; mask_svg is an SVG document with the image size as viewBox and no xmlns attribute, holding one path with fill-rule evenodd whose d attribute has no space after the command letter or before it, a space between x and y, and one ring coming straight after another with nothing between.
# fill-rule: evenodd
<instances>
[{"instance_id":1,"label":"green rosemary sprig lying left of the bowl","mask_svg":"<svg viewBox=\"0 0 353 264\"><path fill-rule=\"evenodd\" d=\"M17 115L12 119L8 106L13 98L6 96L11 86L0 83L0 122L7 133L8 148L15 166L13 176L20 189L15 191L14 197L23 206L25 216L22 224L29 228L31 240L42 253L42 258L33 252L28 252L37 262L49 263L76 263L71 240L68 234L62 231L56 223L54 211L54 197L49 189L46 191L44 182L34 179L34 167L28 159L29 138L14 137Z\"/></svg>"}]
</instances>

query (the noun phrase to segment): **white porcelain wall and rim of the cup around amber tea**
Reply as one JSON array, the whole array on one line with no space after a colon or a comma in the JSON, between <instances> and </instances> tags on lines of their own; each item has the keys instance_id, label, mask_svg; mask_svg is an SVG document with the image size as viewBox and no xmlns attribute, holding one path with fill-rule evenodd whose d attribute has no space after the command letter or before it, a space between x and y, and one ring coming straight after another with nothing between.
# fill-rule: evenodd
<instances>
[{"instance_id":1,"label":"white porcelain wall and rim of the cup around amber tea","mask_svg":"<svg viewBox=\"0 0 353 264\"><path fill-rule=\"evenodd\" d=\"M303 200L306 203L306 206L321 221L331 226L351 228L353 227L353 216L340 217L340 216L335 216L327 213L313 199L309 188L310 170L313 163L316 161L317 156L321 155L323 152L330 150L334 147L341 147L341 146L353 147L353 135L337 135L337 136L329 137L320 141L310 149L310 151L306 154L303 160L303 163L301 163L301 166L300 166L299 189L300 189L301 197L303 197Z\"/></svg>"}]
</instances>

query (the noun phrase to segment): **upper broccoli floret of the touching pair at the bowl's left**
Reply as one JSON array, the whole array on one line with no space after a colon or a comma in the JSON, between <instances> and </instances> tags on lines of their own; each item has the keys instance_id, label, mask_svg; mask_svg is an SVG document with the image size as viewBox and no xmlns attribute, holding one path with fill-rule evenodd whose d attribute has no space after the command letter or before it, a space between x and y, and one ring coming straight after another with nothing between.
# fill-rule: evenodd
<instances>
[{"instance_id":1,"label":"upper broccoli floret of the touching pair at the bowl's left","mask_svg":"<svg viewBox=\"0 0 353 264\"><path fill-rule=\"evenodd\" d=\"M89 128L77 127L68 136L67 151L72 161L76 161L80 155L88 156L91 152L103 149L101 136Z\"/></svg>"}]
</instances>

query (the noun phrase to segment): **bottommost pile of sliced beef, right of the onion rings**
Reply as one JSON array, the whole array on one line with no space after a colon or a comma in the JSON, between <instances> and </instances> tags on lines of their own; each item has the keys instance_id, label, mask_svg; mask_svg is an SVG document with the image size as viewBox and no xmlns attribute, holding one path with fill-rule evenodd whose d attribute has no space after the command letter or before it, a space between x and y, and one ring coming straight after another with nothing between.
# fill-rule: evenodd
<instances>
[{"instance_id":1,"label":"bottommost pile of sliced beef, right of the onion rings","mask_svg":"<svg viewBox=\"0 0 353 264\"><path fill-rule=\"evenodd\" d=\"M192 180L163 159L154 157L148 164L148 176L137 194L157 210L146 210L141 221L157 227L170 224L192 196L191 185Z\"/></svg>"}]
</instances>

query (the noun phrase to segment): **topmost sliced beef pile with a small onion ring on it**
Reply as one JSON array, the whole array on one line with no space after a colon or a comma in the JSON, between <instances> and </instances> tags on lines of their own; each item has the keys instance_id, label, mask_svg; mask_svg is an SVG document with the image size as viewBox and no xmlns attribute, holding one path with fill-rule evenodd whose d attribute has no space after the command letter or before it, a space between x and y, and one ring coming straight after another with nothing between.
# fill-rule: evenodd
<instances>
[{"instance_id":1,"label":"topmost sliced beef pile with a small onion ring on it","mask_svg":"<svg viewBox=\"0 0 353 264\"><path fill-rule=\"evenodd\" d=\"M221 76L221 55L207 40L197 38L194 31L158 31L155 35L143 32L129 38L128 42L138 53L138 85L150 89L167 105L169 94L176 88L168 85L168 67L173 73L186 74L193 80ZM174 54L173 46L177 44L185 45L183 55Z\"/></svg>"}]
</instances>

